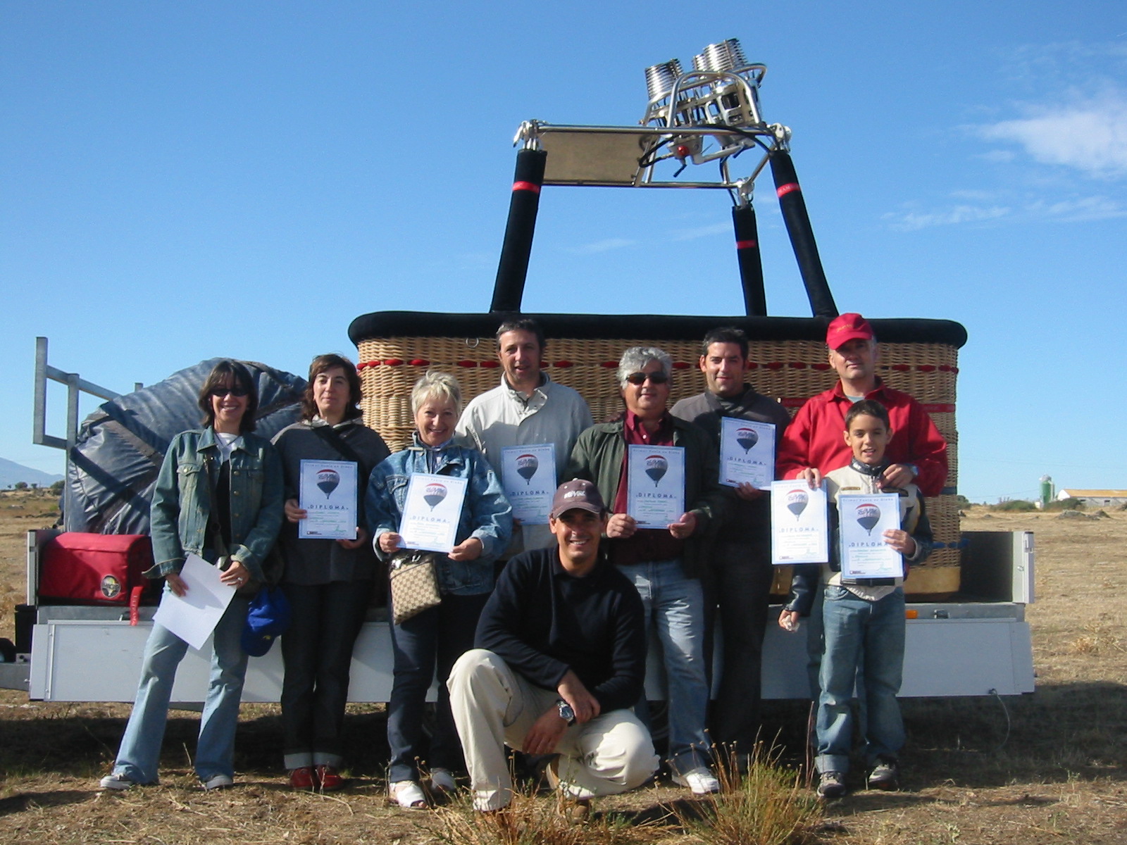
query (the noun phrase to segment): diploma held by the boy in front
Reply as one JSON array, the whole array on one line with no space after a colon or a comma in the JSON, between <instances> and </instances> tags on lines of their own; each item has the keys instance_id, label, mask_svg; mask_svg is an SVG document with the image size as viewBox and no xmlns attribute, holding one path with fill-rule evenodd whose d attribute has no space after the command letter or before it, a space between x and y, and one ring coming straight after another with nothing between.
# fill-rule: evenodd
<instances>
[{"instance_id":1,"label":"diploma held by the boy in front","mask_svg":"<svg viewBox=\"0 0 1127 845\"><path fill-rule=\"evenodd\" d=\"M903 578L904 558L885 542L885 531L900 527L896 493L840 493L842 584L858 578Z\"/></svg>"}]
</instances>

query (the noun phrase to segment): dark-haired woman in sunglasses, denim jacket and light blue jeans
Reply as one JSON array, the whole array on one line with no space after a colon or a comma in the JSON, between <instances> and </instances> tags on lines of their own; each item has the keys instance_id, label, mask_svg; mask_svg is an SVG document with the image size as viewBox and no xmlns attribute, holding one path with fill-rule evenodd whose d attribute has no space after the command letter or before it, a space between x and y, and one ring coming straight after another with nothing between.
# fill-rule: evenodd
<instances>
[{"instance_id":1,"label":"dark-haired woman in sunglasses, denim jacket and light blue jeans","mask_svg":"<svg viewBox=\"0 0 1127 845\"><path fill-rule=\"evenodd\" d=\"M258 394L249 371L221 361L199 391L203 428L172 438L153 489L150 531L156 566L147 578L165 579L165 597L184 596L185 557L225 566L220 580L241 587L261 579L261 562L282 525L282 462L252 434ZM242 629L248 599L236 595L215 625L211 679L199 719L195 770L205 790L234 783L234 730L247 670ZM101 788L126 790L157 783L160 746L176 669L188 643L153 624L145 643L141 684L112 774Z\"/></svg>"}]
</instances>

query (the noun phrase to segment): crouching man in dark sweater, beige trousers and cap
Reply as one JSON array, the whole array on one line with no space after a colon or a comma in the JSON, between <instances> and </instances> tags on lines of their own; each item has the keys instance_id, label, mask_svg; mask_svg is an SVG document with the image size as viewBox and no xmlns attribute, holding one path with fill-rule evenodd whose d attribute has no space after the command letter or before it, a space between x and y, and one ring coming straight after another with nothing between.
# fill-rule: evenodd
<instances>
[{"instance_id":1,"label":"crouching man in dark sweater, beige trousers and cap","mask_svg":"<svg viewBox=\"0 0 1127 845\"><path fill-rule=\"evenodd\" d=\"M641 785L658 759L630 710L646 676L642 604L600 553L606 506L589 481L561 484L557 544L513 558L450 674L451 708L478 810L512 800L505 745L558 754L549 780L586 803Z\"/></svg>"}]
</instances>

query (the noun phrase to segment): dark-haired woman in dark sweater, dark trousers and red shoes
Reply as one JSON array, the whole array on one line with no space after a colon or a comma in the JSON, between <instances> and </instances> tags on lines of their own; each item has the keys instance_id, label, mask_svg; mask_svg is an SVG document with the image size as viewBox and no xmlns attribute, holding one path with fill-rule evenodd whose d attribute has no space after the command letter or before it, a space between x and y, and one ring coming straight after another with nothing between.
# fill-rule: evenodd
<instances>
[{"instance_id":1,"label":"dark-haired woman in dark sweater, dark trousers and red shoes","mask_svg":"<svg viewBox=\"0 0 1127 845\"><path fill-rule=\"evenodd\" d=\"M331 792L345 785L339 768L353 646L369 606L385 586L375 577L378 560L360 501L352 540L302 540L298 532L308 517L298 498L302 461L355 463L362 497L372 469L390 454L383 438L361 419L360 400L353 363L340 355L318 355L309 365L301 421L274 438L286 481L286 523L278 537L285 558L282 588L293 608L293 623L282 638L282 753L295 790Z\"/></svg>"}]
</instances>

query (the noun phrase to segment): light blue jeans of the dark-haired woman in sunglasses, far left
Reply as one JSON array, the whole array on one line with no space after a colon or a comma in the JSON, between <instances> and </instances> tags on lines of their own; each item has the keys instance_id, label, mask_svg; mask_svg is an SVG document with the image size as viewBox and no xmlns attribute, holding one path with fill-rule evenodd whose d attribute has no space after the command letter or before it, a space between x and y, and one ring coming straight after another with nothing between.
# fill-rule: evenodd
<instances>
[{"instance_id":1,"label":"light blue jeans of the dark-haired woman in sunglasses, far left","mask_svg":"<svg viewBox=\"0 0 1127 845\"><path fill-rule=\"evenodd\" d=\"M165 589L167 592L168 587ZM246 598L236 596L215 625L211 679L196 742L195 768L201 781L220 774L234 777L234 730L239 723L242 679L247 674L247 652L241 643L247 605ZM137 696L117 750L114 774L125 775L136 783L157 783L168 702L176 669L187 650L188 643L167 628L152 626L144 646Z\"/></svg>"}]
</instances>

